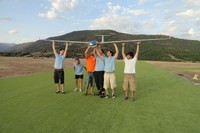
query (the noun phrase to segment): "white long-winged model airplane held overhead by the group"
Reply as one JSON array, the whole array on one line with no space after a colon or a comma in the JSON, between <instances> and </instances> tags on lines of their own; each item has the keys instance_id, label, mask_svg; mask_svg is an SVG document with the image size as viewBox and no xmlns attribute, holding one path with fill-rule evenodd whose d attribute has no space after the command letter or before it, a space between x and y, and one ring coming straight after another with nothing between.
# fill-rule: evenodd
<instances>
[{"instance_id":1,"label":"white long-winged model airplane held overhead by the group","mask_svg":"<svg viewBox=\"0 0 200 133\"><path fill-rule=\"evenodd\" d=\"M120 41L104 41L104 37L105 36L109 36L109 35L96 35L96 36L101 36L101 42L98 42L97 40L93 40L93 41L87 42L87 41L52 40L52 39L45 39L43 41L65 42L65 43L69 43L69 44L84 43L84 44L90 44L91 46L93 46L93 45L96 45L97 43L108 44L108 43L144 42L144 41L157 41L157 40L169 40L169 39L171 39L171 37L169 36L167 38L134 39L134 40L120 40Z\"/></svg>"}]
</instances>

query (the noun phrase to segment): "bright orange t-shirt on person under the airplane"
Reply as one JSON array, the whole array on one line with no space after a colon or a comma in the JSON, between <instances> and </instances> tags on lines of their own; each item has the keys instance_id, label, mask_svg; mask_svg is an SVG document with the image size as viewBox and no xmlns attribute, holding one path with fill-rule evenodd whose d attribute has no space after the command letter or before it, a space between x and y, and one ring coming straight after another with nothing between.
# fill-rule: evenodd
<instances>
[{"instance_id":1,"label":"bright orange t-shirt on person under the airplane","mask_svg":"<svg viewBox=\"0 0 200 133\"><path fill-rule=\"evenodd\" d=\"M94 72L96 64L96 59L94 56L87 56L86 57L86 68L87 72Z\"/></svg>"}]
</instances>

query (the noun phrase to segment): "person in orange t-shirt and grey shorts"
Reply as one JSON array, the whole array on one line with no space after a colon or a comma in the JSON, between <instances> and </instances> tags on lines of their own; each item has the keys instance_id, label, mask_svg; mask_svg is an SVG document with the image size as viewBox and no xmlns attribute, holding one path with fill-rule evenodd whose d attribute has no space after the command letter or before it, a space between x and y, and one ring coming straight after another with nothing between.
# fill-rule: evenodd
<instances>
[{"instance_id":1,"label":"person in orange t-shirt and grey shorts","mask_svg":"<svg viewBox=\"0 0 200 133\"><path fill-rule=\"evenodd\" d=\"M90 86L90 94L94 96L94 93L92 91L94 86L94 69L96 65L96 59L94 57L93 51L88 54L88 51L90 49L90 46L85 50L85 59L86 59L86 68L87 68L87 77L86 77L86 89L85 89L85 95L88 93L88 88Z\"/></svg>"}]
</instances>

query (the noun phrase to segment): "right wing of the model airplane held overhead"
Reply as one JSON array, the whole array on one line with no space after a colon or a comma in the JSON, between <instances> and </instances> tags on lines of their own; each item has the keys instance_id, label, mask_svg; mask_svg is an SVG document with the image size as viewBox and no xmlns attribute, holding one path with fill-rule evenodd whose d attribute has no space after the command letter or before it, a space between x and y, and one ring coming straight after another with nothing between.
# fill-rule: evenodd
<instances>
[{"instance_id":1,"label":"right wing of the model airplane held overhead","mask_svg":"<svg viewBox=\"0 0 200 133\"><path fill-rule=\"evenodd\" d=\"M144 41L156 41L156 40L169 40L169 38L155 38L155 39L135 39L135 40L120 40L120 41L108 41L108 42L100 42L102 44L107 44L107 43L123 43L123 42L144 42Z\"/></svg>"}]
</instances>

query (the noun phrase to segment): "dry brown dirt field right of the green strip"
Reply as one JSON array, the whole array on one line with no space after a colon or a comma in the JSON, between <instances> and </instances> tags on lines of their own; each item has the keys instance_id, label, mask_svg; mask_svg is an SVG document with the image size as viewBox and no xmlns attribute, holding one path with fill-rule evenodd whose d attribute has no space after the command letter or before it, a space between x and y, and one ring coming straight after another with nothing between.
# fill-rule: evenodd
<instances>
[{"instance_id":1,"label":"dry brown dirt field right of the green strip","mask_svg":"<svg viewBox=\"0 0 200 133\"><path fill-rule=\"evenodd\" d=\"M176 75L186 78L193 83L200 83L199 80L193 80L195 74L200 75L200 63L191 62L162 62L162 61L146 61L157 67L170 70Z\"/></svg>"}]
</instances>

